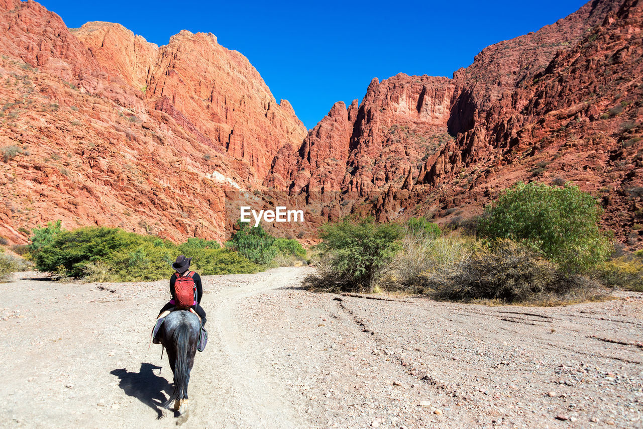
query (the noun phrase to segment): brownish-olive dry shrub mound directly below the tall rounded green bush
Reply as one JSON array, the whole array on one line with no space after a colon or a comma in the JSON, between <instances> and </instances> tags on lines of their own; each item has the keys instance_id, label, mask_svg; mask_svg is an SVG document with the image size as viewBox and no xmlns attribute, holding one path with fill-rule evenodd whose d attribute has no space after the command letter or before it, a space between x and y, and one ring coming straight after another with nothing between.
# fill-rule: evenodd
<instances>
[{"instance_id":1,"label":"brownish-olive dry shrub mound directly below the tall rounded green bush","mask_svg":"<svg viewBox=\"0 0 643 429\"><path fill-rule=\"evenodd\" d=\"M464 264L449 264L425 274L437 298L534 303L550 297L586 298L589 279L569 276L526 246L499 239L476 248ZM593 289L593 288L590 288Z\"/></svg>"}]
</instances>

